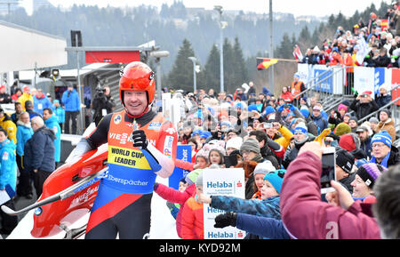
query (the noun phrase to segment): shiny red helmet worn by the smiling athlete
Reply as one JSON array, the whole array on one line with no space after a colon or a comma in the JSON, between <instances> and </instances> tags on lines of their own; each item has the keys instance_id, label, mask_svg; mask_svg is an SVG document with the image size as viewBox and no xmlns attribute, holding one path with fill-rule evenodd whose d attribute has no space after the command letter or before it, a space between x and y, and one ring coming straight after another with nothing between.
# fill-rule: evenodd
<instances>
[{"instance_id":1,"label":"shiny red helmet worn by the smiling athlete","mask_svg":"<svg viewBox=\"0 0 400 257\"><path fill-rule=\"evenodd\" d=\"M119 97L123 106L124 91L146 91L148 93L148 106L150 106L156 92L153 70L143 62L133 61L121 73Z\"/></svg>"}]
</instances>

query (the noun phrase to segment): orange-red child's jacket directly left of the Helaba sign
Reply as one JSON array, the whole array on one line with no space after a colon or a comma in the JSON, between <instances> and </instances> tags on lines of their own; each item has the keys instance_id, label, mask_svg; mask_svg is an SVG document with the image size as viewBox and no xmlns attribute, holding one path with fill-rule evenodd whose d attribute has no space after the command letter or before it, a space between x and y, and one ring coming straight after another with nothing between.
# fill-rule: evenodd
<instances>
[{"instance_id":1,"label":"orange-red child's jacket directly left of the Helaba sign","mask_svg":"<svg viewBox=\"0 0 400 257\"><path fill-rule=\"evenodd\" d=\"M182 209L182 239L204 239L203 204L188 198Z\"/></svg>"}]
</instances>

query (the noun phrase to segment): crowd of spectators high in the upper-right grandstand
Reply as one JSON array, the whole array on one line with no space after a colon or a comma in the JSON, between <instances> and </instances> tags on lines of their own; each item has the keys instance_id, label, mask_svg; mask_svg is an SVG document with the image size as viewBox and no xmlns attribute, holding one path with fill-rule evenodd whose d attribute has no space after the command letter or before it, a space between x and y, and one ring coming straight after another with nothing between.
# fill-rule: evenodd
<instances>
[{"instance_id":1,"label":"crowd of spectators high in the upper-right grandstand","mask_svg":"<svg viewBox=\"0 0 400 257\"><path fill-rule=\"evenodd\" d=\"M361 58L357 52L364 51ZM339 26L332 38L322 45L308 48L298 61L308 64L344 65L364 67L399 68L400 57L400 9L397 1L388 8L384 17L371 12L370 20L359 20L351 30Z\"/></svg>"}]
</instances>

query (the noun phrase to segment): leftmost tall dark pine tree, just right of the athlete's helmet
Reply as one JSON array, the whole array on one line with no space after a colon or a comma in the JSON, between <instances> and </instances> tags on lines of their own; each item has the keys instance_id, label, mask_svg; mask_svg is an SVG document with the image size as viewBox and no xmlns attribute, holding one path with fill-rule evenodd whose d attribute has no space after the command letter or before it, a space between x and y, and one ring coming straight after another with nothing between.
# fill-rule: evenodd
<instances>
[{"instance_id":1,"label":"leftmost tall dark pine tree, just right of the athlete's helmet","mask_svg":"<svg viewBox=\"0 0 400 257\"><path fill-rule=\"evenodd\" d=\"M168 76L168 85L173 89L193 92L193 62L188 59L191 56L195 56L195 52L185 38Z\"/></svg>"}]
</instances>

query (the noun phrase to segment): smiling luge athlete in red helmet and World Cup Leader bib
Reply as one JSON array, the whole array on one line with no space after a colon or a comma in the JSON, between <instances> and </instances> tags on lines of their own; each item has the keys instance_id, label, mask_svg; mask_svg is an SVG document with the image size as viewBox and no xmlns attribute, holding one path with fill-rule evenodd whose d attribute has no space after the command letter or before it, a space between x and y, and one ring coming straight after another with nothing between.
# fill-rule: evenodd
<instances>
[{"instance_id":1,"label":"smiling luge athlete in red helmet and World Cup Leader bib","mask_svg":"<svg viewBox=\"0 0 400 257\"><path fill-rule=\"evenodd\" d=\"M151 110L156 85L144 63L128 64L119 81L124 110L108 114L80 141L73 156L108 142L108 174L102 178L85 238L143 238L150 229L156 176L174 168L178 135L171 122Z\"/></svg>"}]
</instances>

